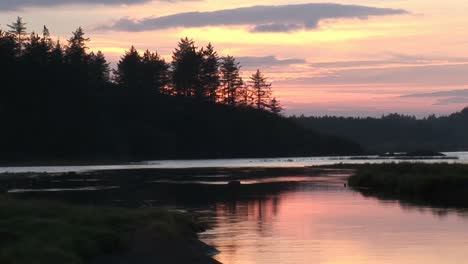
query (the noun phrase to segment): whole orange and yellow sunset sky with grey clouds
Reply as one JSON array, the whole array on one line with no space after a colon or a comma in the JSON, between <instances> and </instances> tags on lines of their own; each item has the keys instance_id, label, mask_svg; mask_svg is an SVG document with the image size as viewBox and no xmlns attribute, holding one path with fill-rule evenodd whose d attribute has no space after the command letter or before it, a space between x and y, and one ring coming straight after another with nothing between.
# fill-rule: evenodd
<instances>
[{"instance_id":1,"label":"whole orange and yellow sunset sky with grey clouds","mask_svg":"<svg viewBox=\"0 0 468 264\"><path fill-rule=\"evenodd\" d=\"M66 40L82 26L115 65L131 45L170 61L182 37L262 70L286 114L445 115L468 106L466 0L1 0Z\"/></svg>"}]
</instances>

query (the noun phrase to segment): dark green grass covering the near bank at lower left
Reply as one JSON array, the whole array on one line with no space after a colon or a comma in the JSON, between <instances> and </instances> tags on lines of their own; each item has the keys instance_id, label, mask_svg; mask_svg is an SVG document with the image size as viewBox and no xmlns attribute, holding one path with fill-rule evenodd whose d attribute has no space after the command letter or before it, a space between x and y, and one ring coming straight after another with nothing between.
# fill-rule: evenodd
<instances>
[{"instance_id":1,"label":"dark green grass covering the near bank at lower left","mask_svg":"<svg viewBox=\"0 0 468 264\"><path fill-rule=\"evenodd\" d=\"M70 206L0 196L0 263L81 264L125 250L130 234L148 228L170 238L196 236L186 215L160 210Z\"/></svg>"}]
</instances>

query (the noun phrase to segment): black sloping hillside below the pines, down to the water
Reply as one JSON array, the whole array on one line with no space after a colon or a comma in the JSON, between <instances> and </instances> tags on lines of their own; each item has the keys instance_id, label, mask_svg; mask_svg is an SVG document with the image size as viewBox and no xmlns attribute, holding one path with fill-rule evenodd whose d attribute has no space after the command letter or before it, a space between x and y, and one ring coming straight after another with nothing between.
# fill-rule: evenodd
<instances>
[{"instance_id":1,"label":"black sloping hillside below the pines, down to the water","mask_svg":"<svg viewBox=\"0 0 468 264\"><path fill-rule=\"evenodd\" d=\"M4 162L362 153L350 140L313 132L268 111L187 97L114 93L86 107L67 101L49 107L54 109L47 114L5 116Z\"/></svg>"}]
</instances>

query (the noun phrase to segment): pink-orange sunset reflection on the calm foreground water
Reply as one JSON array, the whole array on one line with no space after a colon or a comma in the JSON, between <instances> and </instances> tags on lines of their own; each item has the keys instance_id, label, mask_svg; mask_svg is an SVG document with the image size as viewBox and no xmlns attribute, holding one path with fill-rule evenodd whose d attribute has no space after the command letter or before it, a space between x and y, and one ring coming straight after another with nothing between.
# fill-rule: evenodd
<instances>
[{"instance_id":1,"label":"pink-orange sunset reflection on the calm foreground water","mask_svg":"<svg viewBox=\"0 0 468 264\"><path fill-rule=\"evenodd\" d=\"M461 263L468 221L344 188L290 190L219 202L202 238L224 264Z\"/></svg>"}]
</instances>

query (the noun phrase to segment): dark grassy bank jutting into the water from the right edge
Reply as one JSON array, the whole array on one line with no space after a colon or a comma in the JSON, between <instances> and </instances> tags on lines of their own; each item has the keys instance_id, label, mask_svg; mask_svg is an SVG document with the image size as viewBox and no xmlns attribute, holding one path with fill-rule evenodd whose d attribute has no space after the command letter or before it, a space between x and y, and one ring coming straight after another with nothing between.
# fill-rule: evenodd
<instances>
[{"instance_id":1,"label":"dark grassy bank jutting into the water from the right edge","mask_svg":"<svg viewBox=\"0 0 468 264\"><path fill-rule=\"evenodd\" d=\"M350 167L350 165L342 165ZM468 165L389 163L351 165L351 187L381 198L447 207L468 207Z\"/></svg>"}]
</instances>

